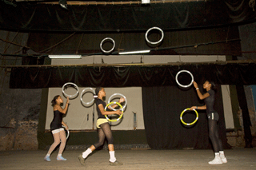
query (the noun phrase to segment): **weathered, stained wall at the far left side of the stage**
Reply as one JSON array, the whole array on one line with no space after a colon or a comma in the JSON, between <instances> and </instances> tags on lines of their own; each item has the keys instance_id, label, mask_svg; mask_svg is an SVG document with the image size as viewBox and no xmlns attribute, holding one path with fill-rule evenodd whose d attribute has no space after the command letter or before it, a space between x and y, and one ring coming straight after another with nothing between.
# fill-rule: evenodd
<instances>
[{"instance_id":1,"label":"weathered, stained wall at the far left side of the stage","mask_svg":"<svg viewBox=\"0 0 256 170\"><path fill-rule=\"evenodd\" d=\"M22 53L28 33L0 31L0 53ZM0 55L1 65L22 65L22 57ZM0 151L38 148L42 89L10 89L10 70L0 67Z\"/></svg>"}]
</instances>

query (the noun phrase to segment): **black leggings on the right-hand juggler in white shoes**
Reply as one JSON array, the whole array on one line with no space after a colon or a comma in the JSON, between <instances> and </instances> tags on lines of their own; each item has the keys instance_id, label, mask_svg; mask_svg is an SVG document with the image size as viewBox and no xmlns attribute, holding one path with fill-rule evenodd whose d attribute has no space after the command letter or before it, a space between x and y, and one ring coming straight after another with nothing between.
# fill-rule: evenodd
<instances>
[{"instance_id":1,"label":"black leggings on the right-hand juggler in white shoes","mask_svg":"<svg viewBox=\"0 0 256 170\"><path fill-rule=\"evenodd\" d=\"M214 152L223 151L222 140L219 138L219 135L218 135L217 121L208 120L208 124L209 124L209 137L210 137L211 143L213 144Z\"/></svg>"}]
</instances>

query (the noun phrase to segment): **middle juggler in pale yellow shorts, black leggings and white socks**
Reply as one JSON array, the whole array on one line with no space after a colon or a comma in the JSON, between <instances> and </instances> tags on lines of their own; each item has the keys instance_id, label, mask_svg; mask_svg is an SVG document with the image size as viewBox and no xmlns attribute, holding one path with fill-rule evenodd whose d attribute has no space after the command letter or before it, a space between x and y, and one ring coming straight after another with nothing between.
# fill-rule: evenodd
<instances>
[{"instance_id":1,"label":"middle juggler in pale yellow shorts, black leggings and white socks","mask_svg":"<svg viewBox=\"0 0 256 170\"><path fill-rule=\"evenodd\" d=\"M105 111L106 103L103 101L103 97L106 97L105 89L102 87L98 87L95 89L96 96L96 106L98 112L98 120L97 120L97 128L98 128L98 142L91 145L90 148L87 148L85 152L82 152L81 155L78 156L78 159L82 165L86 165L85 160L86 157L93 152L96 148L104 144L105 137L108 141L108 148L110 153L110 165L122 165L121 162L118 162L114 156L114 140L110 128L109 122L106 120L105 115L110 114L118 114L121 115L122 112L120 110L117 111ZM124 102L124 98L121 98L118 102ZM112 105L112 108L117 107L118 105ZM110 106L108 107L110 109Z\"/></svg>"}]
</instances>

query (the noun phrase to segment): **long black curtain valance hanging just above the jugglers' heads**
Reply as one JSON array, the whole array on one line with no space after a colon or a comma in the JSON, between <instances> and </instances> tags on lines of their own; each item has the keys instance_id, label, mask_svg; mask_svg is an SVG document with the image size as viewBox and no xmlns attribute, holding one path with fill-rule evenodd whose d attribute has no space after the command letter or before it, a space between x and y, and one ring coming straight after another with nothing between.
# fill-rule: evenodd
<instances>
[{"instance_id":1,"label":"long black curtain valance hanging just above the jugglers' heads","mask_svg":"<svg viewBox=\"0 0 256 170\"><path fill-rule=\"evenodd\" d=\"M11 89L62 87L73 82L79 87L130 87L176 85L175 76L189 70L194 80L206 79L219 85L256 85L256 64L161 65L161 66L59 66L17 67L10 73Z\"/></svg>"}]
</instances>

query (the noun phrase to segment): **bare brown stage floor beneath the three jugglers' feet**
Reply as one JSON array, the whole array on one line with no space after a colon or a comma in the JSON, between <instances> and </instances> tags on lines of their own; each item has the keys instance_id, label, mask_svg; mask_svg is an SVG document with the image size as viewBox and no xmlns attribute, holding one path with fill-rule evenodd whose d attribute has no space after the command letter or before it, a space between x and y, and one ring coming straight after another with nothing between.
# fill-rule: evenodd
<instances>
[{"instance_id":1,"label":"bare brown stage floor beneath the three jugglers' feet","mask_svg":"<svg viewBox=\"0 0 256 170\"><path fill-rule=\"evenodd\" d=\"M58 151L51 155L51 161L46 162L43 157L47 151L4 151L0 152L1 170L76 170L76 169L256 169L256 148L233 148L226 150L228 162L220 165L210 165L208 161L214 158L211 150L116 150L116 157L122 166L110 166L109 154L106 150L95 151L86 159L86 166L79 163L80 150L67 150L62 156L66 161L56 160Z\"/></svg>"}]
</instances>

